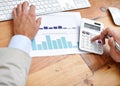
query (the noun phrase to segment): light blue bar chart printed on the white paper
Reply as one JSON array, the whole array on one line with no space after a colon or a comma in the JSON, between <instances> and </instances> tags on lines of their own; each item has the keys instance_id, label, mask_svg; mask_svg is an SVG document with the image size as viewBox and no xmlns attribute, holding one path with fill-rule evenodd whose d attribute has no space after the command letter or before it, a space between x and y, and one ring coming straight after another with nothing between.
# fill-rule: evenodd
<instances>
[{"instance_id":1,"label":"light blue bar chart printed on the white paper","mask_svg":"<svg viewBox=\"0 0 120 86\"><path fill-rule=\"evenodd\" d=\"M72 43L67 41L64 36L53 40L50 35L45 36L45 40L40 43L36 43L36 40L32 40L32 50L52 50L52 49L68 49L68 48L78 48L78 42Z\"/></svg>"}]
</instances>

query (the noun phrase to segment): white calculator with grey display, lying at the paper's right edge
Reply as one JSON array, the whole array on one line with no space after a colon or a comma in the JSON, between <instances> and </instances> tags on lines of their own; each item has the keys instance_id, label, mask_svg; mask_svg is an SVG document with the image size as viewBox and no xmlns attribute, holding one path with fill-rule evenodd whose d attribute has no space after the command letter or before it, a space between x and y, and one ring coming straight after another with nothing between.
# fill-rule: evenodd
<instances>
[{"instance_id":1,"label":"white calculator with grey display, lying at the paper's right edge","mask_svg":"<svg viewBox=\"0 0 120 86\"><path fill-rule=\"evenodd\" d=\"M103 54L101 40L91 42L91 38L99 35L103 30L103 24L98 21L83 18L79 30L79 49L90 53Z\"/></svg>"}]
</instances>

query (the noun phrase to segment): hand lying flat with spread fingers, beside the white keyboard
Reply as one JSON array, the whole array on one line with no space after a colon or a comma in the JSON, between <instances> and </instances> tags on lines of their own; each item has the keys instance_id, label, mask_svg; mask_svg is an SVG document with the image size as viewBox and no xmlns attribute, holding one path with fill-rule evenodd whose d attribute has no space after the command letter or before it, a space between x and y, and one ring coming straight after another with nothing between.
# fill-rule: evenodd
<instances>
[{"instance_id":1,"label":"hand lying flat with spread fingers, beside the white keyboard","mask_svg":"<svg viewBox=\"0 0 120 86\"><path fill-rule=\"evenodd\" d=\"M14 34L25 35L33 39L41 24L41 19L36 20L35 6L31 5L28 10L28 2L18 4L13 9Z\"/></svg>"}]
</instances>

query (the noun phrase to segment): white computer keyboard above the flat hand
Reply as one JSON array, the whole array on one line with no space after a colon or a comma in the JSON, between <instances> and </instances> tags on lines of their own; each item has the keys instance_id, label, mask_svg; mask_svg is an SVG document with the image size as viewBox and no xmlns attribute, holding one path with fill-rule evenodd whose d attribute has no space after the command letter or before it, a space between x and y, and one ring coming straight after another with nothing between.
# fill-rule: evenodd
<instances>
[{"instance_id":1,"label":"white computer keyboard above the flat hand","mask_svg":"<svg viewBox=\"0 0 120 86\"><path fill-rule=\"evenodd\" d=\"M12 19L12 10L20 2L36 6L36 15L90 7L89 0L0 0L0 21Z\"/></svg>"}]
</instances>

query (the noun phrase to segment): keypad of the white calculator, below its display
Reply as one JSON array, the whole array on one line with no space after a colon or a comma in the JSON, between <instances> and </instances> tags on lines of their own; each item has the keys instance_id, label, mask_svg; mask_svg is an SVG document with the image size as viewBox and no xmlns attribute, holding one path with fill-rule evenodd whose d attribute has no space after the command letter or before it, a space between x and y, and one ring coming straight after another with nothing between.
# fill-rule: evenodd
<instances>
[{"instance_id":1,"label":"keypad of the white calculator, below its display","mask_svg":"<svg viewBox=\"0 0 120 86\"><path fill-rule=\"evenodd\" d=\"M95 42L91 42L91 38L94 35L88 31L82 31L82 38L81 38L81 48L83 50L87 50L93 53L102 54L103 53L103 46L100 40Z\"/></svg>"}]
</instances>

